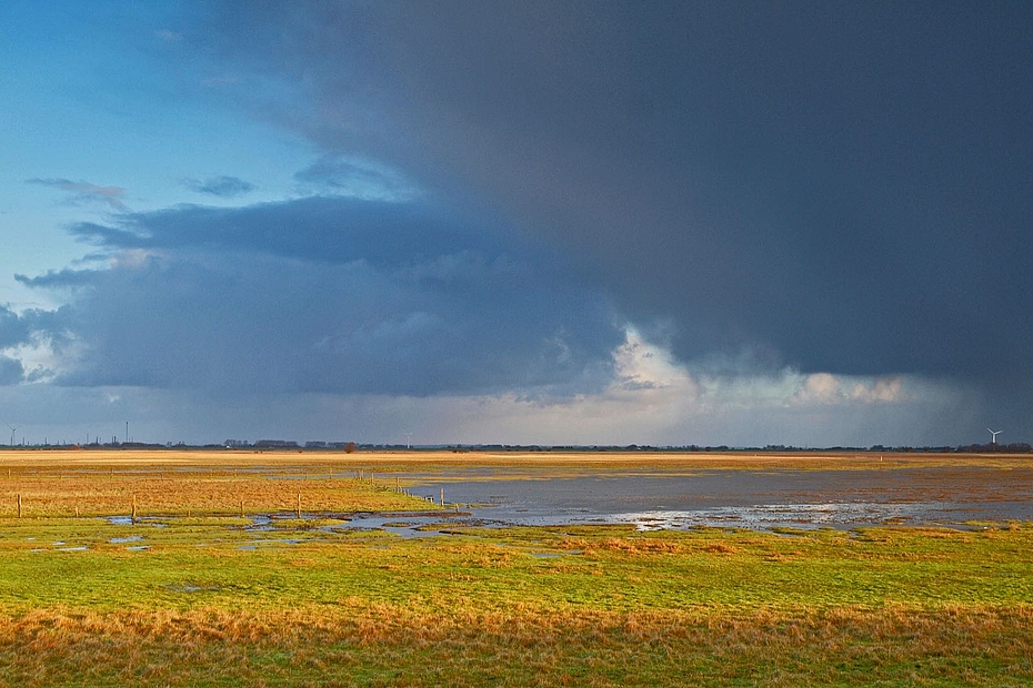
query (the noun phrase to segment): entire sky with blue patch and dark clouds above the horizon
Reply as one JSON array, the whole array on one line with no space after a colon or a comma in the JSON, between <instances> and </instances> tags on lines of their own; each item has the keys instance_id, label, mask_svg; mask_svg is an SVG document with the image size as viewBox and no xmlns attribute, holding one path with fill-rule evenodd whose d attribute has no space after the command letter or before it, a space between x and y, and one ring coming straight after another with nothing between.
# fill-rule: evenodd
<instances>
[{"instance_id":1,"label":"entire sky with blue patch and dark clouds above the horizon","mask_svg":"<svg viewBox=\"0 0 1033 688\"><path fill-rule=\"evenodd\" d=\"M8 0L0 439L1031 442L1030 36Z\"/></svg>"}]
</instances>

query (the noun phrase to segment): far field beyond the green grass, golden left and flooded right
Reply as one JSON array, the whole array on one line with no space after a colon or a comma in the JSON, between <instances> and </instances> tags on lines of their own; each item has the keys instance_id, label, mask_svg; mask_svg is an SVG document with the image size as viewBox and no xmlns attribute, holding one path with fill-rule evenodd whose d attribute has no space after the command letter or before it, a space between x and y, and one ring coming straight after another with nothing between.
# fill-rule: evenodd
<instances>
[{"instance_id":1,"label":"far field beyond the green grass, golden left and flooded right","mask_svg":"<svg viewBox=\"0 0 1033 688\"><path fill-rule=\"evenodd\" d=\"M407 537L457 525L972 527L1033 522L1033 457L7 452L0 453L0 515L7 516L24 509L129 518L138 507L141 516L162 517L295 514ZM413 513L424 508L425 514Z\"/></svg>"}]
</instances>

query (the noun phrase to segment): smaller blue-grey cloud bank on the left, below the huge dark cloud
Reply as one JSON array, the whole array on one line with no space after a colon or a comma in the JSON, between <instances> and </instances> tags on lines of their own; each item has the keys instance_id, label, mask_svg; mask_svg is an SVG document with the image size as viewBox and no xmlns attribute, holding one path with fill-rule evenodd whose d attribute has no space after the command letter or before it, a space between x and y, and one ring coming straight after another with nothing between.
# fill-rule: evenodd
<instances>
[{"instance_id":1,"label":"smaller blue-grey cloud bank on the left, below the huge dark cloud","mask_svg":"<svg viewBox=\"0 0 1033 688\"><path fill-rule=\"evenodd\" d=\"M112 266L23 277L77 296L57 382L429 395L586 392L623 338L605 301L489 224L428 205L182 206L73 231Z\"/></svg>"}]
</instances>

